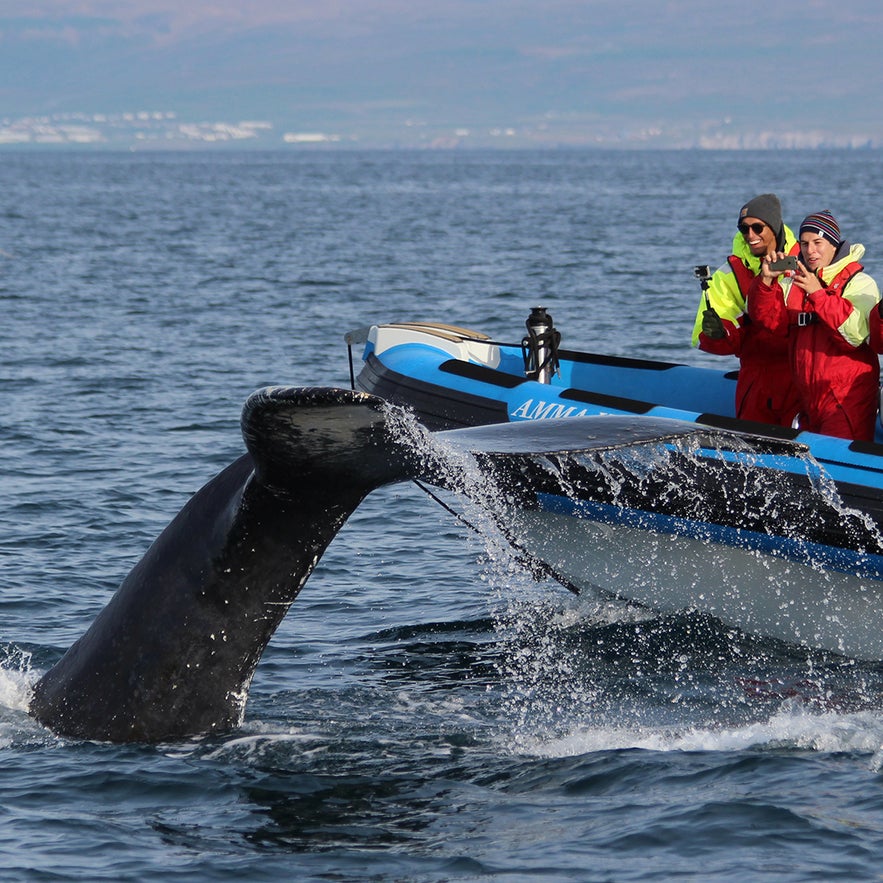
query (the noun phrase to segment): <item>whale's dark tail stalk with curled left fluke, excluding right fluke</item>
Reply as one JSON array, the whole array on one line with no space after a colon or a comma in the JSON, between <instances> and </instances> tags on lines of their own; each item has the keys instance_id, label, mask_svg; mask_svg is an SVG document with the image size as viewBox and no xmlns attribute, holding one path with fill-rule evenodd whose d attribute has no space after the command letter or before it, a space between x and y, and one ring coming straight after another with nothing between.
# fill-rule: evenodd
<instances>
[{"instance_id":1,"label":"whale's dark tail stalk with curled left fluke, excluding right fluke","mask_svg":"<svg viewBox=\"0 0 883 883\"><path fill-rule=\"evenodd\" d=\"M42 724L114 742L238 726L264 648L328 543L366 494L406 477L382 402L364 393L261 390L242 430L248 453L190 499L37 682Z\"/></svg>"}]
</instances>

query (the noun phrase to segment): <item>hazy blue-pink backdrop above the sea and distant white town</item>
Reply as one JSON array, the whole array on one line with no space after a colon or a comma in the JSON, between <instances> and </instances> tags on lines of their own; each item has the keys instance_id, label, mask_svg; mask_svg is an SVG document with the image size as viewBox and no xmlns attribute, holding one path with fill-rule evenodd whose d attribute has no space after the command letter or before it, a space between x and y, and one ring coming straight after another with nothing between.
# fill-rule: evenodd
<instances>
[{"instance_id":1,"label":"hazy blue-pink backdrop above the sea and distant white town","mask_svg":"<svg viewBox=\"0 0 883 883\"><path fill-rule=\"evenodd\" d=\"M880 0L0 0L0 125L362 144L883 145Z\"/></svg>"}]
</instances>

